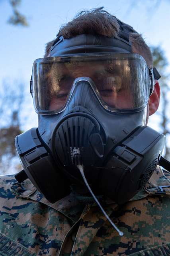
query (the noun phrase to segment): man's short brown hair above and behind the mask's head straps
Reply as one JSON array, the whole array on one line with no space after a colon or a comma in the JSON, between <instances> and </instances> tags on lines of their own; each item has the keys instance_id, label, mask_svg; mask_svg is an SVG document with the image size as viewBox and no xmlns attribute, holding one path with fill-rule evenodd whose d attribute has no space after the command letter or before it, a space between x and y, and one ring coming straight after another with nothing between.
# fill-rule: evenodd
<instances>
[{"instance_id":1,"label":"man's short brown hair above and behind the mask's head straps","mask_svg":"<svg viewBox=\"0 0 170 256\"><path fill-rule=\"evenodd\" d=\"M100 7L79 12L72 21L61 26L57 36L63 36L64 39L68 39L80 34L99 34L118 38L120 30L121 28L117 18L106 10L103 10L103 7ZM55 39L47 43L44 57L49 55L54 41ZM129 41L132 42L133 52L143 56L148 66L152 68L152 53L149 46L145 43L143 36L136 31L133 33L130 32Z\"/></svg>"}]
</instances>

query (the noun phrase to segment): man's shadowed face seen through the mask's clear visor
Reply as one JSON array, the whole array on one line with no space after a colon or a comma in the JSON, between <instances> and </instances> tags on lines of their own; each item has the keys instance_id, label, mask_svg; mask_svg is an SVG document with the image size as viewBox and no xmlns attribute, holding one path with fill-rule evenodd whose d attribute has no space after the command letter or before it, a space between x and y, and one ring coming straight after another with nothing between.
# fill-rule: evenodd
<instances>
[{"instance_id":1,"label":"man's shadowed face seen through the mask's clear visor","mask_svg":"<svg viewBox=\"0 0 170 256\"><path fill-rule=\"evenodd\" d=\"M50 110L64 106L74 80L83 76L93 80L102 100L109 107L133 108L133 92L127 87L130 77L125 78L118 67L106 61L53 64L48 76L51 83Z\"/></svg>"}]
</instances>

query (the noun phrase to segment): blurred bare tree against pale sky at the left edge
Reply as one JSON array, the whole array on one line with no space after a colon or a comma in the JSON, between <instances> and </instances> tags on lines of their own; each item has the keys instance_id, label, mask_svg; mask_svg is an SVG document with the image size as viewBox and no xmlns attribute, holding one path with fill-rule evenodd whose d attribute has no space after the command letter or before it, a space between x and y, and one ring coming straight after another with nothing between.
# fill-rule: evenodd
<instances>
[{"instance_id":1,"label":"blurred bare tree against pale sky at the left edge","mask_svg":"<svg viewBox=\"0 0 170 256\"><path fill-rule=\"evenodd\" d=\"M4 83L0 90L0 174L21 168L14 139L22 132L20 113L23 93L23 84L14 87Z\"/></svg>"}]
</instances>

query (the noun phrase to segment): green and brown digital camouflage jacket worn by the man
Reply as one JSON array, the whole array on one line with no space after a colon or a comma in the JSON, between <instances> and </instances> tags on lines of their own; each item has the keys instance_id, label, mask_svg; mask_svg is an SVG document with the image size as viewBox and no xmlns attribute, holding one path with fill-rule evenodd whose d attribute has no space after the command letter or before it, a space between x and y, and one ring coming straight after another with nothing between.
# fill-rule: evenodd
<instances>
[{"instance_id":1,"label":"green and brown digital camouflage jacket worn by the man","mask_svg":"<svg viewBox=\"0 0 170 256\"><path fill-rule=\"evenodd\" d=\"M106 220L96 203L73 194L50 204L29 180L0 177L1 256L170 256L170 173L159 167L123 206L105 200Z\"/></svg>"}]
</instances>

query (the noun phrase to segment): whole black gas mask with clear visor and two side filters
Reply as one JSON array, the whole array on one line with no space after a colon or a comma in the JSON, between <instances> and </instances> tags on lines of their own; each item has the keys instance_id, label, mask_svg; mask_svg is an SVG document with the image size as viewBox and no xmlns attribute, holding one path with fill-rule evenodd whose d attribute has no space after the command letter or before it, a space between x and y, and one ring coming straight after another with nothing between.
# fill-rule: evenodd
<instances>
[{"instance_id":1,"label":"whole black gas mask with clear visor and two side filters","mask_svg":"<svg viewBox=\"0 0 170 256\"><path fill-rule=\"evenodd\" d=\"M35 60L31 94L38 128L16 137L24 171L54 203L86 185L118 204L131 199L156 169L164 135L146 126L154 78L127 38L57 38L49 58ZM87 191L86 191L87 192ZM86 193L85 192L85 193Z\"/></svg>"}]
</instances>

